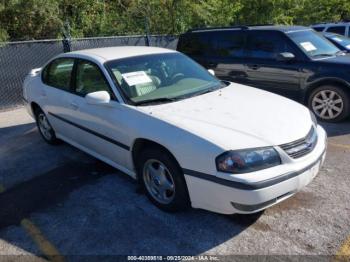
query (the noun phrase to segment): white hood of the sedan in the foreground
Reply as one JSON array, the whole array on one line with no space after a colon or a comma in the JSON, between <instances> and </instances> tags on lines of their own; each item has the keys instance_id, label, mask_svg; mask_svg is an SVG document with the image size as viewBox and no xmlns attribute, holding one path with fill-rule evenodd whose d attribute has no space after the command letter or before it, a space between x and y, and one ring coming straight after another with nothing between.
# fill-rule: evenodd
<instances>
[{"instance_id":1,"label":"white hood of the sedan in the foreground","mask_svg":"<svg viewBox=\"0 0 350 262\"><path fill-rule=\"evenodd\" d=\"M289 143L312 126L306 107L239 84L142 110L226 149Z\"/></svg>"}]
</instances>

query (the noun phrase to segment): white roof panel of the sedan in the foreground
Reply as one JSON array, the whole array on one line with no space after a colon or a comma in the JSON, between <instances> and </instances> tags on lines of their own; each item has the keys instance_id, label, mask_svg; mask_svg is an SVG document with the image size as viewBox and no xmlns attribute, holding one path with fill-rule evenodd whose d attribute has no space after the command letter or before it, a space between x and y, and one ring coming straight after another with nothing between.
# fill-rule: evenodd
<instances>
[{"instance_id":1,"label":"white roof panel of the sedan in the foreground","mask_svg":"<svg viewBox=\"0 0 350 262\"><path fill-rule=\"evenodd\" d=\"M133 56L151 55L151 54L163 54L174 53L175 50L170 50L160 47L150 46L117 46L117 47L103 47L94 49L84 49L79 51L73 51L65 53L61 56L74 56L74 57L92 57L101 62L128 58Z\"/></svg>"}]
</instances>

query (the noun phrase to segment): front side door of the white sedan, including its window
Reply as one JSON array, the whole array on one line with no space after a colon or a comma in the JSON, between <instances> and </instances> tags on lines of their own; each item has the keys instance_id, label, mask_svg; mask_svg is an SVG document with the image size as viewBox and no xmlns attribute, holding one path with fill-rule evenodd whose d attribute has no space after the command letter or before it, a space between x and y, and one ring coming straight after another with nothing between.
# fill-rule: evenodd
<instances>
[{"instance_id":1,"label":"front side door of the white sedan, including its window","mask_svg":"<svg viewBox=\"0 0 350 262\"><path fill-rule=\"evenodd\" d=\"M85 96L96 91L107 91L108 104L92 105ZM74 69L73 96L75 105L73 124L76 126L75 142L92 154L125 166L129 149L129 135L121 123L127 117L117 101L101 68L92 61L79 59Z\"/></svg>"}]
</instances>

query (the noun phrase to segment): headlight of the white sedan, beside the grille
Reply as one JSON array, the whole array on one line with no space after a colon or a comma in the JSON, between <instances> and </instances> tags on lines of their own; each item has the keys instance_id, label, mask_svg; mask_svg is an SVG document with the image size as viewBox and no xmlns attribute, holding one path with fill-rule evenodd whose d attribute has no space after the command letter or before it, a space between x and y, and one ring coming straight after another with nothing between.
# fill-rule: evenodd
<instances>
[{"instance_id":1,"label":"headlight of the white sedan, beside the grille","mask_svg":"<svg viewBox=\"0 0 350 262\"><path fill-rule=\"evenodd\" d=\"M277 166L281 158L272 147L228 151L216 158L216 168L225 173L249 173Z\"/></svg>"}]
</instances>

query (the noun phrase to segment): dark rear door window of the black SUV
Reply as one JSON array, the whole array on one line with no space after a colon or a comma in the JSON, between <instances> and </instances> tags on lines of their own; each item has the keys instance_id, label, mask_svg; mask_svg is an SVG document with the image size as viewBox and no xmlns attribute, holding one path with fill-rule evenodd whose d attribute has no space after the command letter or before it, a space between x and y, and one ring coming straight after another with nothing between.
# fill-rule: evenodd
<instances>
[{"instance_id":1,"label":"dark rear door window of the black SUV","mask_svg":"<svg viewBox=\"0 0 350 262\"><path fill-rule=\"evenodd\" d=\"M243 57L245 33L243 31L215 32L212 37L213 49L219 57Z\"/></svg>"}]
</instances>

